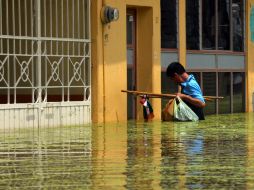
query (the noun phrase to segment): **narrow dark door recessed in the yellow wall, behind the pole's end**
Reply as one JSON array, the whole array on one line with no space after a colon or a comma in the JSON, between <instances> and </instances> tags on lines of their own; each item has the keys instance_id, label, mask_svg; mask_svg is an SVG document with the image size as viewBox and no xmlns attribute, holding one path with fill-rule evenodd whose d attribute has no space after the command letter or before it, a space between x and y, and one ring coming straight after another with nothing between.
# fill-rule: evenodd
<instances>
[{"instance_id":1,"label":"narrow dark door recessed in the yellow wall, behind the pole's end","mask_svg":"<svg viewBox=\"0 0 254 190\"><path fill-rule=\"evenodd\" d=\"M136 11L127 9L127 89L136 90ZM136 97L127 95L127 118L136 119Z\"/></svg>"}]
</instances>

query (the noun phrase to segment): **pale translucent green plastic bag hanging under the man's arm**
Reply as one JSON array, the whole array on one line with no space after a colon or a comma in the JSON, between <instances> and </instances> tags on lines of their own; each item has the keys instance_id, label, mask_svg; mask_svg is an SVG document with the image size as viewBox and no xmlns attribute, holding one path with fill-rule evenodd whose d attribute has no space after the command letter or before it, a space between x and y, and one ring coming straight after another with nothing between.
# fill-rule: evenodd
<instances>
[{"instance_id":1,"label":"pale translucent green plastic bag hanging under the man's arm","mask_svg":"<svg viewBox=\"0 0 254 190\"><path fill-rule=\"evenodd\" d=\"M174 99L174 119L179 121L198 121L198 116L187 106L181 98Z\"/></svg>"}]
</instances>

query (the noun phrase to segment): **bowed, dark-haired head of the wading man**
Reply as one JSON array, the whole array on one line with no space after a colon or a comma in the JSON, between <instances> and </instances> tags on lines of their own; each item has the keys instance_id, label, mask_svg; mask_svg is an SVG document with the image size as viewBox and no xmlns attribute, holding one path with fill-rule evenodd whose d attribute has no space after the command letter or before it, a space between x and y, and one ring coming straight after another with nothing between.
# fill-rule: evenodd
<instances>
[{"instance_id":1,"label":"bowed, dark-haired head of the wading man","mask_svg":"<svg viewBox=\"0 0 254 190\"><path fill-rule=\"evenodd\" d=\"M179 62L172 62L167 68L167 76L176 83L184 82L182 75L186 73L184 67Z\"/></svg>"}]
</instances>

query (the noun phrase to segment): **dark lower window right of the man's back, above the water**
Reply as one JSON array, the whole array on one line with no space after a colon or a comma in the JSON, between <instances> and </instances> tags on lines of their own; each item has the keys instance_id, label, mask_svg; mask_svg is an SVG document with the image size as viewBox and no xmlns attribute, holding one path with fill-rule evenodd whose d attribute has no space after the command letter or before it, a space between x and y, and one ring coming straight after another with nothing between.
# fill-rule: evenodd
<instances>
[{"instance_id":1,"label":"dark lower window right of the man's back, above the water","mask_svg":"<svg viewBox=\"0 0 254 190\"><path fill-rule=\"evenodd\" d=\"M200 84L204 96L223 96L223 99L206 101L204 112L209 114L239 113L245 111L244 72L191 72Z\"/></svg>"}]
</instances>

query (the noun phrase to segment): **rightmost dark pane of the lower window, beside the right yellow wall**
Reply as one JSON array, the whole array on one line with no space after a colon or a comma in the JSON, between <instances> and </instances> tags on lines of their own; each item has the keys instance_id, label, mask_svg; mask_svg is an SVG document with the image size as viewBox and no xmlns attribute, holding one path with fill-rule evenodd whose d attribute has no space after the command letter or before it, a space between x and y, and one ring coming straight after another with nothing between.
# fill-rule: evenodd
<instances>
[{"instance_id":1,"label":"rightmost dark pane of the lower window, beside the right yellow wall","mask_svg":"<svg viewBox=\"0 0 254 190\"><path fill-rule=\"evenodd\" d=\"M245 111L244 73L233 73L233 112Z\"/></svg>"}]
</instances>

